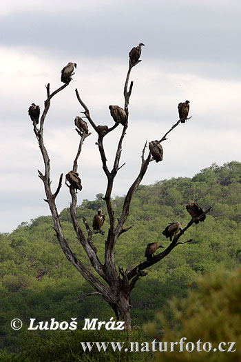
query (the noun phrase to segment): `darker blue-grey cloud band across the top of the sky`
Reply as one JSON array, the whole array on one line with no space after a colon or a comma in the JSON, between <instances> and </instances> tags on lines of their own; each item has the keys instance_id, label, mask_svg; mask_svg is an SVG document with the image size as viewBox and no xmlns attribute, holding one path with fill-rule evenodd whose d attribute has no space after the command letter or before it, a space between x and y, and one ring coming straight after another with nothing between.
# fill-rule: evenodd
<instances>
[{"instance_id":1,"label":"darker blue-grey cloud band across the top of the sky","mask_svg":"<svg viewBox=\"0 0 241 362\"><path fill-rule=\"evenodd\" d=\"M105 8L3 17L2 42L38 46L55 54L124 57L139 41L145 58L233 62L240 58L241 9L207 2L132 1Z\"/></svg>"}]
</instances>

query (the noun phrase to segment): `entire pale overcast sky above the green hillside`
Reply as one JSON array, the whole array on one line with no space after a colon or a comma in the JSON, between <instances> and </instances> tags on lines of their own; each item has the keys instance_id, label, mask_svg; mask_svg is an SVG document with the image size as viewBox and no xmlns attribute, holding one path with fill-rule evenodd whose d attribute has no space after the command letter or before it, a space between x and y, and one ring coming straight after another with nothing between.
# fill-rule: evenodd
<instances>
[{"instance_id":1,"label":"entire pale overcast sky above the green hillside","mask_svg":"<svg viewBox=\"0 0 241 362\"><path fill-rule=\"evenodd\" d=\"M68 8L67 8L68 7ZM75 88L95 123L113 125L109 104L123 107L128 53L145 43L132 70L134 88L114 195L126 194L138 173L145 141L160 139L178 120L177 105L190 101L193 117L163 143L163 162L152 162L148 185L192 177L211 163L240 161L240 0L3 0L0 8L1 204L0 232L50 214L43 201L40 150L28 117L32 102L43 110L45 85L61 86L61 69L77 63L73 81L52 99L45 120L53 191L72 169L78 148ZM85 140L78 172L78 203L105 192L96 134ZM111 165L121 125L105 138ZM59 212L70 205L63 184Z\"/></svg>"}]
</instances>

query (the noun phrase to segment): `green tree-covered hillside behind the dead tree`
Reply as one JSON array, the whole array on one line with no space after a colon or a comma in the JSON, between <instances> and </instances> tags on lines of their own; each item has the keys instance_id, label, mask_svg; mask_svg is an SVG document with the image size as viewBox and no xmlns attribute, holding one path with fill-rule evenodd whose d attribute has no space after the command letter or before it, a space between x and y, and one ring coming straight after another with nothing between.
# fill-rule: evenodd
<instances>
[{"instance_id":1,"label":"green tree-covered hillside behind the dead tree","mask_svg":"<svg viewBox=\"0 0 241 362\"><path fill-rule=\"evenodd\" d=\"M197 201L202 208L213 205L213 209L204 223L193 225L182 237L182 241L193 239L192 243L179 245L138 281L131 299L132 325L153 319L171 296L187 296L190 288L196 288L198 275L216 270L220 263L227 270L240 265L241 163L236 161L222 167L212 165L191 179L180 177L140 185L126 225L135 227L123 234L116 245L117 265L126 268L144 261L147 243L169 245L162 231L173 221L187 225L190 216L185 205L189 201ZM122 203L122 197L114 199L116 217L121 214ZM100 207L106 214L101 194L96 195L95 201L83 201L77 210L80 223L85 217L92 225ZM76 240L67 208L61 212L61 225L77 257L90 265ZM103 230L107 233L107 220ZM105 236L96 234L93 241L103 261ZM30 224L22 223L11 234L0 234L0 245L0 348L17 352L23 343L24 333L10 328L14 318L20 318L27 328L30 318L70 321L76 317L82 328L85 318L107 321L113 316L101 296L86 296L93 290L63 255L51 217L39 217Z\"/></svg>"}]
</instances>

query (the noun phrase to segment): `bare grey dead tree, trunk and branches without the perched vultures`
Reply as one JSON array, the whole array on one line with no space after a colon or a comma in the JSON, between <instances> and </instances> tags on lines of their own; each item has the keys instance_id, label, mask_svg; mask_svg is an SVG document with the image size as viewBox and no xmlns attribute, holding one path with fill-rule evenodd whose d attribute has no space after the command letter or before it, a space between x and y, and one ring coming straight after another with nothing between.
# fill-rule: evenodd
<instances>
[{"instance_id":1,"label":"bare grey dead tree, trunk and branches without the perched vultures","mask_svg":"<svg viewBox=\"0 0 241 362\"><path fill-rule=\"evenodd\" d=\"M136 64L135 64L136 65ZM59 243L61 245L61 248L63 250L63 253L65 254L65 257L74 265L74 267L80 272L80 274L83 276L83 278L92 285L94 290L96 292L91 294L99 294L103 297L109 305L113 308L116 318L125 321L125 328L131 329L131 315L130 315L130 308L131 305L129 303L129 296L133 290L133 288L136 285L136 282L140 277L143 277L147 275L147 272L145 271L147 268L149 268L151 265L154 265L155 263L158 263L161 259L167 257L169 252L176 248L176 246L184 243L188 243L191 240L180 242L179 239L182 237L182 235L185 233L185 231L192 225L194 222L194 219L191 219L187 226L183 228L183 230L176 234L173 241L169 244L169 246L163 250L163 252L160 252L159 254L156 254L156 256L152 257L151 259L144 261L143 263L139 263L134 268L129 267L126 270L123 270L121 266L116 267L115 261L114 261L114 248L116 246L116 243L118 242L118 238L121 234L127 232L130 228L133 227L133 225L129 228L125 228L125 223L127 221L127 217L129 214L129 207L130 203L132 201L132 197L136 189L138 188L138 185L142 181L145 173L147 172L148 165L151 161L154 161L154 158L151 157L151 150L149 150L149 153L145 155L145 151L147 149L147 142L144 145L142 155L141 155L141 163L140 163L140 171L138 172L138 175L132 185L130 186L127 195L123 201L123 209L121 213L121 217L119 217L118 220L116 220L114 215L114 210L112 206L112 188L114 185L114 179L116 177L116 174L118 173L118 170L123 167L123 165L120 166L121 161L121 151L122 151L122 145L123 145L123 139L125 137L125 134L127 132L128 128L128 117L129 117L129 98L132 94L132 88L133 88L133 82L130 82L129 85L129 76L132 71L132 68L134 68L135 65L129 64L129 69L127 71L127 77L125 80L125 86L124 86L124 110L127 114L127 119L125 123L122 125L121 123L116 122L112 128L107 128L105 126L105 132L102 132L101 128L99 126L96 126L96 123L94 123L90 111L87 108L87 105L83 102L80 95L78 94L78 90L76 89L76 97L81 103L81 106L83 107L83 113L85 114L85 117L90 122L90 125L92 125L92 128L94 128L94 131L98 134L98 150L101 155L101 162L103 171L105 172L105 175L107 177L107 188L105 192L105 196L103 199L105 200L106 207L107 207L107 213L109 217L109 230L107 234L107 239L105 241L105 263L101 263L101 261L98 259L97 250L94 247L94 244L92 242L92 239L94 237L94 234L96 233L96 230L91 230L89 224L87 223L87 220L83 218L83 224L85 225L85 229L87 231L87 234L83 232L83 228L81 227L80 223L78 222L78 219L76 217L76 204L77 204L77 195L74 188L69 186L70 188L70 195L71 195L71 204L70 204L70 215L72 219L72 224L74 227L74 231L76 232L76 237L78 241L81 243L83 252L87 254L87 257L90 260L90 264L92 265L92 268L96 270L99 277L96 277L90 270L89 265L84 265L77 257L76 254L70 249L70 246L68 245L64 235L63 230L61 228L61 223L59 220L59 214L56 209L56 203L55 199L57 195L59 194L59 191L61 190L61 185L63 181L63 174L61 174L59 178L59 185L55 192L52 192L51 188L51 181L50 181L50 158L48 156L48 151L45 148L44 142L43 142L43 125L45 122L45 118L48 114L48 110L50 108L50 101L52 97L54 97L57 93L61 92L66 88L70 82L65 83L63 86L61 86L59 89L55 90L50 94L50 84L46 86L47 90L47 99L44 103L44 110L41 114L41 121L39 128L36 125L36 121L33 121L34 126L34 133L36 135L36 139L39 142L39 148L41 150L41 154L43 156L43 161L45 165L45 172L44 174L42 172L39 172L39 177L43 181L44 188L45 188L45 194L46 199L45 201L48 203L50 207L50 211L52 214L52 219L54 222L54 230L56 232L56 237L59 240ZM158 141L159 143L162 143L167 139L167 134L174 130L180 123L180 120L178 120L171 128L168 130L168 132L165 133L165 135ZM112 167L109 167L107 165L107 159L105 157L105 147L103 143L104 137L107 138L107 135L109 132L114 131L117 127L123 127L121 137L118 141L118 146L116 149L116 154L114 158L114 163ZM78 169L78 157L81 154L81 149L83 147L83 142L85 141L86 137L90 136L90 133L86 134L78 133L81 137L78 151L76 154L76 157L74 159L73 163L73 172L77 172ZM146 157L146 158L145 158ZM82 191L83 192L83 191ZM206 210L204 213L206 214L209 212L211 208ZM101 230L100 230L101 231ZM98 231L97 231L98 232ZM103 283L103 281L105 283Z\"/></svg>"}]
</instances>

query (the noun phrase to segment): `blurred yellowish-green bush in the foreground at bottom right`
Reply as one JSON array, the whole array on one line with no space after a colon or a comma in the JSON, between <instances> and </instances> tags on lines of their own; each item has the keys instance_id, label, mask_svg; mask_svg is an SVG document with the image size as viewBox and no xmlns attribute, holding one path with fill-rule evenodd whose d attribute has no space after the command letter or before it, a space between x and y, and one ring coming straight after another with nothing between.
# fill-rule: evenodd
<instances>
[{"instance_id":1,"label":"blurred yellowish-green bush in the foreground at bottom right","mask_svg":"<svg viewBox=\"0 0 241 362\"><path fill-rule=\"evenodd\" d=\"M178 341L174 352L158 352L156 361L241 361L240 279L241 268L232 272L219 268L212 274L199 277L198 289L189 292L187 299L171 301L167 308L171 316L158 314L156 323L146 326L156 341L165 341L168 345L171 341ZM164 332L158 332L160 328ZM186 339L183 352L180 352L182 337Z\"/></svg>"}]
</instances>

